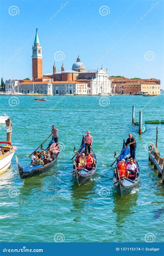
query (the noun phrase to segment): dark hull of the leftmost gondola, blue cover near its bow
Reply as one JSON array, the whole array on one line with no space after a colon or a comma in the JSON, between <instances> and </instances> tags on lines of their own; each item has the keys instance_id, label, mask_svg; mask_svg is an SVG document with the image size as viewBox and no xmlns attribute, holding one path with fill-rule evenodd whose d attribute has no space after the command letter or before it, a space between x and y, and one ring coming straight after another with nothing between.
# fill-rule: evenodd
<instances>
[{"instance_id":1,"label":"dark hull of the leftmost gondola, blue cover near its bow","mask_svg":"<svg viewBox=\"0 0 164 256\"><path fill-rule=\"evenodd\" d=\"M55 159L52 160L52 162L49 162L48 164L46 164L46 165L44 165L44 166L42 166L42 167L38 167L38 168L37 168L37 166L34 166L34 169L31 168L31 171L30 171L30 172L24 171L24 168L19 165L18 157L16 156L16 163L17 163L18 174L19 174L20 179L26 179L26 178L29 178L29 177L33 177L33 176L36 176L36 175L45 173L45 172L48 171L48 170L53 166L53 164L56 162L56 160L57 160L59 154L60 154L60 144L59 144L58 153L57 153L56 155L54 155L54 158L55 158ZM29 165L29 166L31 166L31 165Z\"/></svg>"}]
</instances>

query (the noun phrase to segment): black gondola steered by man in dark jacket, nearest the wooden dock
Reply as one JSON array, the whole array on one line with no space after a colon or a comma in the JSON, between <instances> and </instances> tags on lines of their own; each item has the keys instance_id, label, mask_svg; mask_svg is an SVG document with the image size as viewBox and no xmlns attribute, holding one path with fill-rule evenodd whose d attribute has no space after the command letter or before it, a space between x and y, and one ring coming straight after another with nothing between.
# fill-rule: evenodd
<instances>
[{"instance_id":1,"label":"black gondola steered by man in dark jacket, nearest the wooden dock","mask_svg":"<svg viewBox=\"0 0 164 256\"><path fill-rule=\"evenodd\" d=\"M134 163L137 166L137 172L136 175L132 175L130 174L129 177L120 177L119 172L118 172L118 168L117 168L117 164L119 161L121 161L121 159L125 159L125 164L127 164L130 160L130 150L129 148L125 149L125 140L123 143L123 147L122 147L122 151L124 151L124 153L122 153L122 155L120 155L119 159L117 160L116 166L115 166L115 170L116 173L113 172L113 185L116 189L116 192L121 196L124 197L127 194L129 194L134 188L137 187L138 183L139 183L139 179L140 179L140 169L139 169L139 165L137 162L137 159L135 158Z\"/></svg>"}]
</instances>

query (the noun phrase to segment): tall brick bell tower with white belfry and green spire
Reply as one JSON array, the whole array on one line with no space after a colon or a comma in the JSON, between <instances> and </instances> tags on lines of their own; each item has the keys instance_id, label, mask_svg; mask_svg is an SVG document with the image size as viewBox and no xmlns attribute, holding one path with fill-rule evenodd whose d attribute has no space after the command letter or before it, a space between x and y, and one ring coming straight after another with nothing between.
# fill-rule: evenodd
<instances>
[{"instance_id":1,"label":"tall brick bell tower with white belfry and green spire","mask_svg":"<svg viewBox=\"0 0 164 256\"><path fill-rule=\"evenodd\" d=\"M32 47L32 64L33 64L33 81L36 78L43 77L43 68L42 68L42 46L40 46L38 38L38 29L36 29L34 46Z\"/></svg>"}]
</instances>

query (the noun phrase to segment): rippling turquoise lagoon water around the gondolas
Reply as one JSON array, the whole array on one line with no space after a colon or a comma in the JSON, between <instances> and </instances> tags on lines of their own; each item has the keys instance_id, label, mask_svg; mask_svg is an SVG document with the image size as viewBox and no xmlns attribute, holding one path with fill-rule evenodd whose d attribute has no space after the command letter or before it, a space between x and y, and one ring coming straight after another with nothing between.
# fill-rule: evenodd
<instances>
[{"instance_id":1,"label":"rippling turquoise lagoon water around the gondolas","mask_svg":"<svg viewBox=\"0 0 164 256\"><path fill-rule=\"evenodd\" d=\"M29 163L28 155L48 137L52 124L60 130L62 151L46 174L20 180L14 156L10 168L0 175L0 241L145 242L145 236L163 241L164 212L154 212L163 207L162 179L149 163L147 152L147 145L155 144L156 125L147 124L147 131L139 136L131 119L135 105L135 121L141 108L144 121L164 120L164 94L102 99L49 96L45 102L34 98L0 96L0 114L11 118L12 142L18 147L20 165ZM86 130L93 136L98 168L93 179L79 187L72 180L70 159ZM164 157L164 124L158 125L158 130L158 151ZM138 188L121 198L113 189L110 165L114 151L119 154L129 132L137 140L141 177ZM0 125L0 139L6 139L5 125Z\"/></svg>"}]
</instances>

